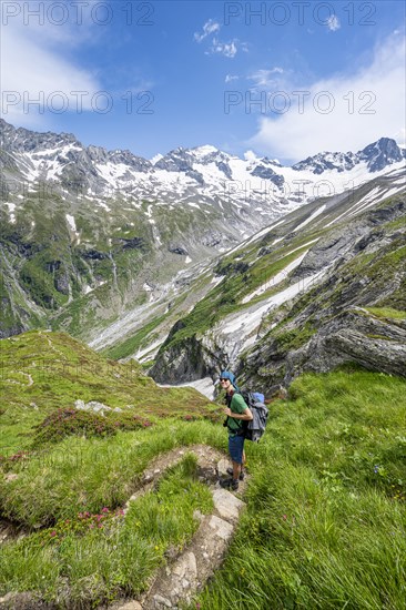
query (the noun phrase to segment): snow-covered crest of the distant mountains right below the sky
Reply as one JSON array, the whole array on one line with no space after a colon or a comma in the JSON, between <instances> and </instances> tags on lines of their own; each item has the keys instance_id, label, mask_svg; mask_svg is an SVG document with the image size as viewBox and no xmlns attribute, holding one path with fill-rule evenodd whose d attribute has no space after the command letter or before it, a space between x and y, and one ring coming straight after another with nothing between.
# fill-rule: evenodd
<instances>
[{"instance_id":1,"label":"snow-covered crest of the distant mountains right below the sky","mask_svg":"<svg viewBox=\"0 0 406 610\"><path fill-rule=\"evenodd\" d=\"M14 166L29 182L60 180L63 186L82 193L122 191L124 194L133 192L160 197L165 194L165 189L175 189L171 174L177 173L182 184L181 187L177 184L175 193L181 201L193 196L195 189L203 190L200 194L205 196L232 196L240 204L244 200L266 203L266 199L281 204L295 196L297 199L300 194L308 200L318 195L318 191L314 192L315 176L325 174L324 177L331 182L329 187L337 192L343 190L343 181L337 181L336 174L349 172L349 177L357 185L365 176L353 176L351 172L354 169L363 169L364 174L371 174L406 159L406 149L400 149L388 138L380 138L357 153L323 152L292 166L284 166L266 156L242 160L212 145L180 146L152 162L129 150L109 151L93 144L84 146L71 133L16 129L3 119L0 120L0 134L1 149L14 155ZM68 169L72 164L77 165L75 171ZM3 182L7 182L7 164L2 162L1 165L6 171ZM146 179L153 183L150 189ZM248 187L244 181L250 181ZM270 184L264 181L270 181ZM309 186L313 186L313 192Z\"/></svg>"}]
</instances>

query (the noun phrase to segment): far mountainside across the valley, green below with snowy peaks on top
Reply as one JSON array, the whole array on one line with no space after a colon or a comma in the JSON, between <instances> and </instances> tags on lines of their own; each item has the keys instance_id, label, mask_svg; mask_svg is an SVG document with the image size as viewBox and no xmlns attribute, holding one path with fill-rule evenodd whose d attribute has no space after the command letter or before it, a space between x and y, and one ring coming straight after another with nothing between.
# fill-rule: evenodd
<instances>
[{"instance_id":1,"label":"far mountainside across the valley, green below with snowy peaks on top","mask_svg":"<svg viewBox=\"0 0 406 610\"><path fill-rule=\"evenodd\" d=\"M323 194L390 175L406 154L380 139L293 167L213 146L153 163L3 120L0 132L0 336L51 327L98 349L130 340L119 356L162 343L211 288L219 254Z\"/></svg>"}]
</instances>

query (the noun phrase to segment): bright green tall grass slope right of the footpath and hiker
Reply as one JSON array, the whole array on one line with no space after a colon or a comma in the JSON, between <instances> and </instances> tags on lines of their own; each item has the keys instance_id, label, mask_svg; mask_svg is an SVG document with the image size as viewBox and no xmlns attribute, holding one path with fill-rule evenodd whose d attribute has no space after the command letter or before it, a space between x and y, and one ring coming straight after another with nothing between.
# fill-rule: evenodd
<instances>
[{"instance_id":1,"label":"bright green tall grass slope right of the footpath and hiker","mask_svg":"<svg viewBox=\"0 0 406 610\"><path fill-rule=\"evenodd\" d=\"M206 610L400 610L406 599L406 383L306 375L248 447L248 508ZM192 607L191 607L192 608Z\"/></svg>"}]
</instances>

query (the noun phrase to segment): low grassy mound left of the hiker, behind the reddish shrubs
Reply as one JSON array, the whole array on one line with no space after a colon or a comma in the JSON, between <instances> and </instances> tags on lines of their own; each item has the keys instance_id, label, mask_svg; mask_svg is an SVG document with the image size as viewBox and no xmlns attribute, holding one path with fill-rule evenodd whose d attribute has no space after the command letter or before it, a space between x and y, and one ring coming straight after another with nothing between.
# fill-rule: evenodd
<instances>
[{"instance_id":1,"label":"low grassy mound left of the hiker, behind the reddish shrubs","mask_svg":"<svg viewBox=\"0 0 406 610\"><path fill-rule=\"evenodd\" d=\"M30 332L0 342L0 454L29 449L27 431L78 399L97 400L155 423L215 410L191 388L160 388L134 363L106 360L63 333Z\"/></svg>"}]
</instances>

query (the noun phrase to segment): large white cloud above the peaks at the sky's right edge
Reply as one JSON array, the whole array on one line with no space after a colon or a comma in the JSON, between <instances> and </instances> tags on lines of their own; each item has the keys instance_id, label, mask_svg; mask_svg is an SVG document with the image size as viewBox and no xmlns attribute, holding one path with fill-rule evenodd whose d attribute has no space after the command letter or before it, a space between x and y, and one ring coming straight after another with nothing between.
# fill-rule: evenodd
<instances>
[{"instance_id":1,"label":"large white cloud above the peaks at the sky's right edge","mask_svg":"<svg viewBox=\"0 0 406 610\"><path fill-rule=\"evenodd\" d=\"M298 161L323 150L357 151L380 136L402 143L405 87L405 39L392 34L376 47L366 68L307 87L292 84L280 98L268 91L267 112L246 144L262 154Z\"/></svg>"}]
</instances>

